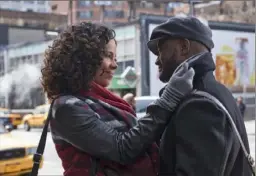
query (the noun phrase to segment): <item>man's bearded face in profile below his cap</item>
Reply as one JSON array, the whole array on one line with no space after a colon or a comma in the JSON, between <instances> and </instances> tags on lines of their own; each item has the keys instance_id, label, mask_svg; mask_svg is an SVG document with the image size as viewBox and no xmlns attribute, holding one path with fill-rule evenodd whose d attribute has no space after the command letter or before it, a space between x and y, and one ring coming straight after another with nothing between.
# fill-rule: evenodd
<instances>
[{"instance_id":1,"label":"man's bearded face in profile below his cap","mask_svg":"<svg viewBox=\"0 0 256 176\"><path fill-rule=\"evenodd\" d=\"M159 79L168 82L175 69L183 62L180 55L179 39L159 40L158 57L155 64L158 66Z\"/></svg>"}]
</instances>

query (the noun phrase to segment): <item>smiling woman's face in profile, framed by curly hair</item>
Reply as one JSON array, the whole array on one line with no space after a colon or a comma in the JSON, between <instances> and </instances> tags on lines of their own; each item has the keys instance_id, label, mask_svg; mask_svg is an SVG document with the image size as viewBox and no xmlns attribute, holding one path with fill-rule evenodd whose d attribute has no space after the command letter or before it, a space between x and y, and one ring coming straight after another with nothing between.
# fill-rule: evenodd
<instances>
[{"instance_id":1,"label":"smiling woman's face in profile, framed by curly hair","mask_svg":"<svg viewBox=\"0 0 256 176\"><path fill-rule=\"evenodd\" d=\"M116 42L115 40L110 40L106 45L106 55L102 56L103 60L101 63L100 68L97 70L96 76L94 81L103 86L107 87L117 69L117 62L116 62Z\"/></svg>"}]
</instances>

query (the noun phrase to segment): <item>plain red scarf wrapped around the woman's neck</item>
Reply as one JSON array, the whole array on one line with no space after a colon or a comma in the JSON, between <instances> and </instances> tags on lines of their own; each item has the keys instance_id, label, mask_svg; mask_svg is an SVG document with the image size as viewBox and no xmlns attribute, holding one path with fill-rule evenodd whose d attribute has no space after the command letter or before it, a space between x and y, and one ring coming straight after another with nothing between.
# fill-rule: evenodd
<instances>
[{"instance_id":1,"label":"plain red scarf wrapped around the woman's neck","mask_svg":"<svg viewBox=\"0 0 256 176\"><path fill-rule=\"evenodd\" d=\"M84 96L91 96L93 98L99 99L136 116L136 113L134 112L131 105L129 105L122 98L116 96L115 94L95 82L92 82L91 89L89 91L81 91L81 94Z\"/></svg>"}]
</instances>

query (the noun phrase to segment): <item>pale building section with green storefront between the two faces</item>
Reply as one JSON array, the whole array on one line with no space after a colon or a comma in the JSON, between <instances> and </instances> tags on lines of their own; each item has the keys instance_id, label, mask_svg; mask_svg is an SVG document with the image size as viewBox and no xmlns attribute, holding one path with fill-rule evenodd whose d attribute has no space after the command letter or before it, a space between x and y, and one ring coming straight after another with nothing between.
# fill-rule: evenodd
<instances>
[{"instance_id":1,"label":"pale building section with green storefront between the two faces","mask_svg":"<svg viewBox=\"0 0 256 176\"><path fill-rule=\"evenodd\" d=\"M130 92L136 94L139 83L139 35L136 31L137 23L115 27L117 41L117 64L118 68L114 78L108 87L117 95L123 96ZM127 80L125 74L130 74Z\"/></svg>"}]
</instances>

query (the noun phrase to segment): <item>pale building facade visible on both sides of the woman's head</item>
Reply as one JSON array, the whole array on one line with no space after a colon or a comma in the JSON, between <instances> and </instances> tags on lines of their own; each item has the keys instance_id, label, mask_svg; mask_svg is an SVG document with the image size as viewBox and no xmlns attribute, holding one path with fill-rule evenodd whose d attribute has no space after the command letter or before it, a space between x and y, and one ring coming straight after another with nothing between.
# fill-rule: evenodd
<instances>
[{"instance_id":1,"label":"pale building facade visible on both sides of the woman's head","mask_svg":"<svg viewBox=\"0 0 256 176\"><path fill-rule=\"evenodd\" d=\"M137 23L136 23L137 24ZM133 92L136 94L136 87L139 84L139 49L140 44L139 26L136 24L116 27L116 40L117 40L117 60L118 69L114 75L114 78L108 87L114 93L122 96L127 92ZM0 79L12 75L13 72L20 70L20 67L25 64L30 64L38 69L40 68L44 52L53 40L41 41L41 42L27 42L16 45L9 45L0 51ZM25 68L25 67L24 67ZM127 70L130 68L130 70ZM21 71L22 73L23 71ZM124 75L124 73L126 75ZM22 73L23 74L23 73ZM33 73L31 73L33 74ZM31 81L30 81L31 82ZM9 85L1 85L10 87ZM23 84L23 83L22 83ZM24 85L22 85L24 87ZM25 86L26 87L26 86ZM42 93L40 84L37 86L28 85L31 93L28 95L28 100L25 100L22 104L15 104L13 99L15 90L11 90L9 94L1 95L0 91L0 105L4 105L9 108L33 108L37 105L44 104L46 102L45 95ZM9 88L10 89L10 88Z\"/></svg>"}]
</instances>

